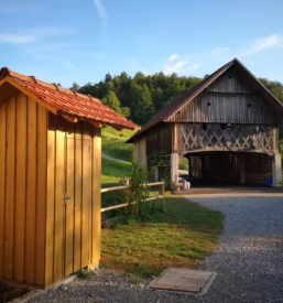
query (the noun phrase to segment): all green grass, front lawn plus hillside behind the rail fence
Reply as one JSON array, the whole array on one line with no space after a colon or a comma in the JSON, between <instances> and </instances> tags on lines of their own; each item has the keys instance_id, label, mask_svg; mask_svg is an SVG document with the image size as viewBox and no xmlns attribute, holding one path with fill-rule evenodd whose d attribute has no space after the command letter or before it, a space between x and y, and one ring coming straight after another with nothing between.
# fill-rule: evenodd
<instances>
[{"instance_id":1,"label":"all green grass, front lawn plus hillside behind the rail fence","mask_svg":"<svg viewBox=\"0 0 283 303\"><path fill-rule=\"evenodd\" d=\"M131 161L132 144L124 144L133 133L102 129L102 152ZM184 161L186 165L187 161ZM102 159L102 187L117 186L120 176L131 175L131 164ZM119 193L102 194L102 207L119 202ZM122 210L104 214L104 219ZM224 226L224 215L185 198L168 196L165 214L137 219L102 229L102 267L140 277L156 275L167 267L197 268L214 251Z\"/></svg>"}]
</instances>

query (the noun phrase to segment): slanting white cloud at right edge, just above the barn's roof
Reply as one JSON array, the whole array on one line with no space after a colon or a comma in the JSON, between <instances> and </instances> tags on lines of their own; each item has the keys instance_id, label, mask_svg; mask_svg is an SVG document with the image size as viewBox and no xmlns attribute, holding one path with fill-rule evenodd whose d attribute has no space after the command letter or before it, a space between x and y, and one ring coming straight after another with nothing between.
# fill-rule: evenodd
<instances>
[{"instance_id":1,"label":"slanting white cloud at right edge, just above the barn's roof","mask_svg":"<svg viewBox=\"0 0 283 303\"><path fill-rule=\"evenodd\" d=\"M272 34L266 37L258 40L249 50L243 52L241 56L248 56L251 54L259 53L268 48L279 48L282 47L282 36L279 34Z\"/></svg>"}]
</instances>

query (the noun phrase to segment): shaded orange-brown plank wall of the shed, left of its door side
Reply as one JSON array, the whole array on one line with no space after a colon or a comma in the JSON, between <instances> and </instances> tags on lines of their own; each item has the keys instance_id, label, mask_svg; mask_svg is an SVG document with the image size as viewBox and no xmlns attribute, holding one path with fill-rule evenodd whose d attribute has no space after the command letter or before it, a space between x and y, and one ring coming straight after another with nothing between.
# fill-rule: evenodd
<instances>
[{"instance_id":1,"label":"shaded orange-brown plank wall of the shed, left of its door side","mask_svg":"<svg viewBox=\"0 0 283 303\"><path fill-rule=\"evenodd\" d=\"M34 284L44 281L46 115L22 93L0 106L0 275Z\"/></svg>"}]
</instances>

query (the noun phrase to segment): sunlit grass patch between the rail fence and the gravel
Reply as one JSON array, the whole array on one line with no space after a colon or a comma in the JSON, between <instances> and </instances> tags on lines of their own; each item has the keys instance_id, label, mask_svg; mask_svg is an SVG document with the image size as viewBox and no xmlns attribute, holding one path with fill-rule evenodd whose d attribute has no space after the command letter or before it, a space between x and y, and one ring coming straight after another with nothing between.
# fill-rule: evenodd
<instances>
[{"instance_id":1,"label":"sunlit grass patch between the rail fence and the gravel","mask_svg":"<svg viewBox=\"0 0 283 303\"><path fill-rule=\"evenodd\" d=\"M224 215L170 195L165 214L102 229L101 267L140 277L167 267L197 268L218 246Z\"/></svg>"}]
</instances>

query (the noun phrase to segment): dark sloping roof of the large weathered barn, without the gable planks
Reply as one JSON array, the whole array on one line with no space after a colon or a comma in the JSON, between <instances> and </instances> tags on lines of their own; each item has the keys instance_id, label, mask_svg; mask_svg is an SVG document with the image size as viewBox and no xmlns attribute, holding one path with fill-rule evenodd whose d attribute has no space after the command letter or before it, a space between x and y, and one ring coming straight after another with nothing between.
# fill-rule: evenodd
<instances>
[{"instance_id":1,"label":"dark sloping roof of the large weathered barn, without the gable planks","mask_svg":"<svg viewBox=\"0 0 283 303\"><path fill-rule=\"evenodd\" d=\"M183 106L187 102L196 98L205 88L207 88L213 82L215 82L220 75L222 75L228 68L232 65L237 65L244 74L244 76L253 83L255 87L258 87L263 95L266 97L268 101L277 109L283 116L283 105L282 102L275 98L270 90L263 86L258 78L247 68L244 67L237 58L228 62L222 67L217 69L215 73L203 79L196 86L191 88L185 94L178 96L174 101L168 104L164 107L161 111L155 113L139 131L137 131L128 141L127 143L132 143L134 139L140 137L142 133L148 131L149 129L153 128L154 126L159 125L160 122L164 121L167 122L170 118L175 115Z\"/></svg>"}]
</instances>

